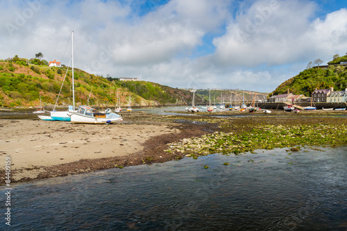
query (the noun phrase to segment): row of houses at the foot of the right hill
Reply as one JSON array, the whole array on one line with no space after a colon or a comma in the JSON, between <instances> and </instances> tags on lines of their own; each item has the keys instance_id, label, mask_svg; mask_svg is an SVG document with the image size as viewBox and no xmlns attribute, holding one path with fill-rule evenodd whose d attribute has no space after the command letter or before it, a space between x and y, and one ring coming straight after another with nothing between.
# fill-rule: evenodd
<instances>
[{"instance_id":1,"label":"row of houses at the foot of the right hill","mask_svg":"<svg viewBox=\"0 0 347 231\"><path fill-rule=\"evenodd\" d=\"M312 92L312 97L304 96L303 94L294 95L291 93L279 94L271 96L269 102L281 103L281 102L325 102L325 103L341 103L347 102L347 88L343 91L334 91L334 87L329 89L316 89Z\"/></svg>"}]
</instances>

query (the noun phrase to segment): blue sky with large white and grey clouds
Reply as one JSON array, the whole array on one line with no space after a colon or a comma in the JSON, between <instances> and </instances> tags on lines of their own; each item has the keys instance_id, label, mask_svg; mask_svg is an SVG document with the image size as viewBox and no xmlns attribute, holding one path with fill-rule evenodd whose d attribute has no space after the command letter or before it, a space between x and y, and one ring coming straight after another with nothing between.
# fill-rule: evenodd
<instances>
[{"instance_id":1,"label":"blue sky with large white and grey clouds","mask_svg":"<svg viewBox=\"0 0 347 231\"><path fill-rule=\"evenodd\" d=\"M0 22L0 59L69 65L73 30L74 67L178 88L272 92L347 53L345 0L0 0Z\"/></svg>"}]
</instances>

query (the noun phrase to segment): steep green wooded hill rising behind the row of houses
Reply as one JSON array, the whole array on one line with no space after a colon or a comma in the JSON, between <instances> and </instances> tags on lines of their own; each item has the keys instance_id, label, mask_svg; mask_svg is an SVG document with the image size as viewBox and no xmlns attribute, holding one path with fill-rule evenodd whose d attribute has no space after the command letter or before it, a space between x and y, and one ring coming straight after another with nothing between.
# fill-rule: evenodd
<instances>
[{"instance_id":1,"label":"steep green wooded hill rising behind the row of houses","mask_svg":"<svg viewBox=\"0 0 347 231\"><path fill-rule=\"evenodd\" d=\"M347 61L347 55L334 55L334 60L328 62L328 66L310 67L301 71L279 85L269 96L285 94L288 89L293 94L305 96L311 96L315 89L334 87L335 91L344 90L347 87L347 65L341 64L344 60Z\"/></svg>"}]
</instances>

